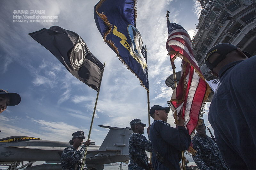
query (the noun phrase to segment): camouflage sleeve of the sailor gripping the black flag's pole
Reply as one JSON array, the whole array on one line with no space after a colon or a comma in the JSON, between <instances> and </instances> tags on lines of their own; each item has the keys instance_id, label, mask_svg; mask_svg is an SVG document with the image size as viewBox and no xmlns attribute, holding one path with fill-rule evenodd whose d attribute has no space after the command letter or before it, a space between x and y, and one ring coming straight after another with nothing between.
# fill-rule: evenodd
<instances>
[{"instance_id":1,"label":"camouflage sleeve of the sailor gripping the black flag's pole","mask_svg":"<svg viewBox=\"0 0 256 170\"><path fill-rule=\"evenodd\" d=\"M65 159L74 164L78 164L80 159L84 156L86 147L86 145L83 145L83 147L78 151L74 151L73 149L69 148L66 152Z\"/></svg>"}]
</instances>

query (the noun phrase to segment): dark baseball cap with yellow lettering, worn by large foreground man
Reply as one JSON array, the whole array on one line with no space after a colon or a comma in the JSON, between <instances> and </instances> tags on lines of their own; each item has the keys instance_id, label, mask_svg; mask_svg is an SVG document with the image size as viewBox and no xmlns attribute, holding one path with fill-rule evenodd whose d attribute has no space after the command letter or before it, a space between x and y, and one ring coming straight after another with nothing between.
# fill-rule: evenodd
<instances>
[{"instance_id":1,"label":"dark baseball cap with yellow lettering, worn by large foreground man","mask_svg":"<svg viewBox=\"0 0 256 170\"><path fill-rule=\"evenodd\" d=\"M228 43L220 43L215 46L213 46L211 49L209 49L205 55L204 58L204 63L205 65L210 69L213 70L222 60L226 58L226 55L230 53L233 50L236 50L238 47L228 44ZM213 62L210 63L208 61L208 58L213 54L213 53L219 53L220 56ZM243 53L250 58L251 54L243 51Z\"/></svg>"}]
</instances>

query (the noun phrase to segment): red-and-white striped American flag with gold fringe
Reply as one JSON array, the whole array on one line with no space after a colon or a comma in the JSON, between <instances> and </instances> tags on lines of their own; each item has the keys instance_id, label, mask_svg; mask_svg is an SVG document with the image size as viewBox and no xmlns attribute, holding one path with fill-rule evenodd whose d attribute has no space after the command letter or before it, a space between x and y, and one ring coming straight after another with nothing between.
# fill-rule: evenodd
<instances>
[{"instance_id":1,"label":"red-and-white striped American flag with gold fringe","mask_svg":"<svg viewBox=\"0 0 256 170\"><path fill-rule=\"evenodd\" d=\"M200 123L199 117L203 117L205 104L211 92L210 86L206 83L198 63L194 58L190 36L187 31L176 23L168 22L168 40L166 48L171 62L177 57L182 60L181 78L178 86L174 89L172 98L168 101L172 109L175 122L177 115L182 114L185 120L185 128L189 135L194 135L194 131Z\"/></svg>"}]
</instances>

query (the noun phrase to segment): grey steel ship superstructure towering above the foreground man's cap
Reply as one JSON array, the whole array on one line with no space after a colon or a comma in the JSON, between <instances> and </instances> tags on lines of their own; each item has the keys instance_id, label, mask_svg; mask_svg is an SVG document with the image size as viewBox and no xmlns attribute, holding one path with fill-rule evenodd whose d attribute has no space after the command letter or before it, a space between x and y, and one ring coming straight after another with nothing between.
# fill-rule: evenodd
<instances>
[{"instance_id":1,"label":"grey steel ship superstructure towering above the foreground man's cap","mask_svg":"<svg viewBox=\"0 0 256 170\"><path fill-rule=\"evenodd\" d=\"M197 0L198 29L192 39L193 53L206 80L216 79L204 64L208 49L219 43L230 43L256 55L256 0Z\"/></svg>"}]
</instances>

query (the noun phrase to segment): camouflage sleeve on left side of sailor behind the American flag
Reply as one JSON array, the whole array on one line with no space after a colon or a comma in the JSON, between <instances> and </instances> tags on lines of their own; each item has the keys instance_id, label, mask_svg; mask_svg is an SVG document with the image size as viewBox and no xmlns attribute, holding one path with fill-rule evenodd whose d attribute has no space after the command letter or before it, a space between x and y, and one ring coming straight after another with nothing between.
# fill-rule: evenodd
<instances>
[{"instance_id":1,"label":"camouflage sleeve on left side of sailor behind the American flag","mask_svg":"<svg viewBox=\"0 0 256 170\"><path fill-rule=\"evenodd\" d=\"M200 149L200 145L196 140L192 140L193 148L197 151L196 155L192 155L196 165L200 170L211 170L204 162L203 155Z\"/></svg>"}]
</instances>

